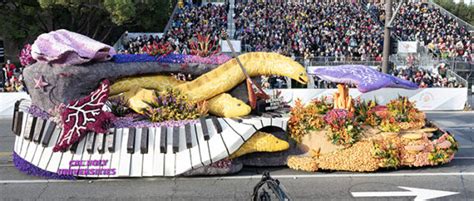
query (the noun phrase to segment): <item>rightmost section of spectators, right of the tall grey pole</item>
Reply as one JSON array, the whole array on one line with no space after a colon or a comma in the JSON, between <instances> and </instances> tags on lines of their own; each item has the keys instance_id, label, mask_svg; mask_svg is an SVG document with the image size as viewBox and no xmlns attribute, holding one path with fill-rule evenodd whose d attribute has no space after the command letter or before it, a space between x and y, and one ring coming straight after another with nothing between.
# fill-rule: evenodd
<instances>
[{"instance_id":1,"label":"rightmost section of spectators, right of the tall grey pole","mask_svg":"<svg viewBox=\"0 0 474 201\"><path fill-rule=\"evenodd\" d=\"M403 3L392 33L404 41L421 42L437 58L462 61L474 58L474 36L456 19L426 3Z\"/></svg>"}]
</instances>

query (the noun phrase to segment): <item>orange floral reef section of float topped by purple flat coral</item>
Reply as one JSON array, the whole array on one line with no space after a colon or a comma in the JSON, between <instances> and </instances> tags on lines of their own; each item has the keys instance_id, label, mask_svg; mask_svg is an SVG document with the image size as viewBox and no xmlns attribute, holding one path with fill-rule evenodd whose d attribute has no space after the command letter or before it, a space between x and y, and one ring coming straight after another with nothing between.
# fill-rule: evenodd
<instances>
[{"instance_id":1,"label":"orange floral reef section of float topped by purple flat coral","mask_svg":"<svg viewBox=\"0 0 474 201\"><path fill-rule=\"evenodd\" d=\"M359 91L368 92L382 87L416 89L415 84L358 65L321 67L309 73L340 84L333 101L327 97L308 105L297 101L292 108L289 135L307 153L290 156L290 168L371 172L435 166L453 159L454 138L427 123L425 114L407 97L387 105L353 101L346 86L355 84Z\"/></svg>"}]
</instances>

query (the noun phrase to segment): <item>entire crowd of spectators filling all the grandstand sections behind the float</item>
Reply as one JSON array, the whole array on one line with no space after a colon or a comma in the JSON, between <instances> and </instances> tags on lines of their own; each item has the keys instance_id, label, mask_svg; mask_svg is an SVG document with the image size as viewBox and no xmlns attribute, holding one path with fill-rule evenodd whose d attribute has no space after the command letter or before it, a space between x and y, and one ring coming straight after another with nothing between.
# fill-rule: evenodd
<instances>
[{"instance_id":1,"label":"entire crowd of spectators filling all the grandstand sections behind the float","mask_svg":"<svg viewBox=\"0 0 474 201\"><path fill-rule=\"evenodd\" d=\"M123 53L145 53L147 45L168 45L190 54L196 35L218 41L227 28L228 5L186 5L178 9L163 37L126 42ZM236 0L234 38L244 51L273 51L303 60L381 61L383 4L347 2L278 3ZM454 18L426 3L404 3L393 23L400 40L418 40L439 58L472 61L473 36Z\"/></svg>"}]
</instances>

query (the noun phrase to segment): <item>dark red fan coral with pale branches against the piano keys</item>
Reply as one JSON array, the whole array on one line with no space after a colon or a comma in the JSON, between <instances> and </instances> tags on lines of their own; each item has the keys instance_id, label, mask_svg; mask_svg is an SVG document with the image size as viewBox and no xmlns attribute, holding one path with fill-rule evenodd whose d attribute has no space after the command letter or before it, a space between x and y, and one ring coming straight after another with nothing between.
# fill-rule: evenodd
<instances>
[{"instance_id":1,"label":"dark red fan coral with pale branches against the piano keys","mask_svg":"<svg viewBox=\"0 0 474 201\"><path fill-rule=\"evenodd\" d=\"M107 122L112 114L102 110L109 96L109 81L104 80L98 89L89 96L71 101L61 113L64 124L61 139L53 151L66 150L70 145L79 141L88 131L104 133Z\"/></svg>"}]
</instances>

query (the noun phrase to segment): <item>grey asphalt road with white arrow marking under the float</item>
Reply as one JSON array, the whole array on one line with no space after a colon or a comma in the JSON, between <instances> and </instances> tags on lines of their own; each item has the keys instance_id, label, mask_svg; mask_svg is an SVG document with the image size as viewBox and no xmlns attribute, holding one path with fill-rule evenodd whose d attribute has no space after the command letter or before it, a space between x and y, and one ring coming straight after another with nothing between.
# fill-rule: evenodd
<instances>
[{"instance_id":1,"label":"grey asphalt road with white arrow marking under the float","mask_svg":"<svg viewBox=\"0 0 474 201\"><path fill-rule=\"evenodd\" d=\"M446 196L434 200L474 200L474 112L433 112L428 118L460 143L450 164L364 174L246 167L225 177L77 181L44 180L18 172L10 159L14 142L10 122L0 120L0 200L249 200L264 170L280 180L293 200L413 200L437 195Z\"/></svg>"}]
</instances>

